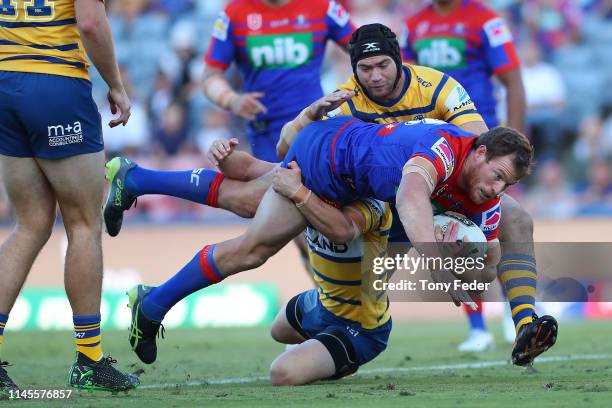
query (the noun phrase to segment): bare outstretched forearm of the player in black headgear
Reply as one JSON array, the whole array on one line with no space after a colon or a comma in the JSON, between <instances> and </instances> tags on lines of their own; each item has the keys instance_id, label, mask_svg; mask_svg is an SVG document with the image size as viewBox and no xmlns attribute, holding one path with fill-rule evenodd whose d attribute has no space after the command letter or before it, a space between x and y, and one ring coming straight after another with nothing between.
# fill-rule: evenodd
<instances>
[{"instance_id":1,"label":"bare outstretched forearm of the player in black headgear","mask_svg":"<svg viewBox=\"0 0 612 408\"><path fill-rule=\"evenodd\" d=\"M334 91L316 100L300 112L295 119L285 123L285 126L281 129L278 143L276 144L276 154L278 157L281 159L285 158L285 155L289 151L291 144L300 130L317 120L321 120L323 116L337 109L353 96L355 96L355 92L353 91Z\"/></svg>"}]
</instances>

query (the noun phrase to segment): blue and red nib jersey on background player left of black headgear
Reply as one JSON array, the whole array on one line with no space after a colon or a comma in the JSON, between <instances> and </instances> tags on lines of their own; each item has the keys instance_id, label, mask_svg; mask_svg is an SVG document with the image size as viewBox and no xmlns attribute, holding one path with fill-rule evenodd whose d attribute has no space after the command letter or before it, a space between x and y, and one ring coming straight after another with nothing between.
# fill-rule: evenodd
<instances>
[{"instance_id":1,"label":"blue and red nib jersey on background player left of black headgear","mask_svg":"<svg viewBox=\"0 0 612 408\"><path fill-rule=\"evenodd\" d=\"M215 23L205 60L227 68L236 61L245 92L263 92L268 113L258 120L293 119L323 95L320 70L325 44L349 41L348 13L333 0L234 0Z\"/></svg>"}]
</instances>

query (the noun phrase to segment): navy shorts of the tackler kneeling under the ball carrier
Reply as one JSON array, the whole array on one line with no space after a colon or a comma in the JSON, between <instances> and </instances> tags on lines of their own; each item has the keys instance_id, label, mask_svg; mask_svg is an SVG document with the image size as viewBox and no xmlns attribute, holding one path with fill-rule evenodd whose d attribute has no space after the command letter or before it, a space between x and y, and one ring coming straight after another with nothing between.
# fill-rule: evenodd
<instances>
[{"instance_id":1,"label":"navy shorts of the tackler kneeling under the ball carrier","mask_svg":"<svg viewBox=\"0 0 612 408\"><path fill-rule=\"evenodd\" d=\"M306 339L320 340L328 348L336 363L344 358L353 362L353 372L387 348L392 327L391 319L380 327L368 330L362 328L358 322L336 316L321 304L317 289L302 292L291 299L287 303L286 313L291 326ZM338 353L347 353L347 356L337 355L338 353L333 350L334 343L330 346L326 340L331 336L336 337L336 340L344 345L336 348L339 349ZM338 364L336 368L337 371L341 371L338 370ZM346 375L341 372L338 374Z\"/></svg>"}]
</instances>

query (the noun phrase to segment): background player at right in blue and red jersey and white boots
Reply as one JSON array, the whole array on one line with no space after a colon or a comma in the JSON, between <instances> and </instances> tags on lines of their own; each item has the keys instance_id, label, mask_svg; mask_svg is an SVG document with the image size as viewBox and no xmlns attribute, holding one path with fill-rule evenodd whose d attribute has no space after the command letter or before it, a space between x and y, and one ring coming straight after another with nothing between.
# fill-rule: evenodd
<instances>
[{"instance_id":1,"label":"background player at right in blue and red jersey and white boots","mask_svg":"<svg viewBox=\"0 0 612 408\"><path fill-rule=\"evenodd\" d=\"M473 0L434 0L406 20L402 41L407 61L438 69L459 81L489 128L499 124L493 81L499 80L506 94L506 124L523 131L525 90L512 34L504 20L488 7ZM527 223L531 224L531 220ZM533 251L523 255L532 263L527 265L529 269L535 268ZM510 262L512 259L506 261L516 264ZM460 351L480 351L495 346L493 335L485 325L481 302L479 306L476 311L465 309L470 336L459 345ZM504 335L508 341L514 341L509 317L505 320Z\"/></svg>"}]
</instances>

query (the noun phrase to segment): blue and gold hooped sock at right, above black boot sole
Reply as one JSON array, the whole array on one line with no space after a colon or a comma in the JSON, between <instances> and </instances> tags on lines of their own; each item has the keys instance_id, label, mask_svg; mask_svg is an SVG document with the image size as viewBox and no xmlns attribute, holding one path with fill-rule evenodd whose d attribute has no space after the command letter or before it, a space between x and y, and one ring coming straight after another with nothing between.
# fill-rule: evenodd
<instances>
[{"instance_id":1,"label":"blue and gold hooped sock at right, above black boot sole","mask_svg":"<svg viewBox=\"0 0 612 408\"><path fill-rule=\"evenodd\" d=\"M538 279L535 258L526 254L504 255L498 274L508 295L514 328L518 331L524 324L531 323L535 313Z\"/></svg>"}]
</instances>

